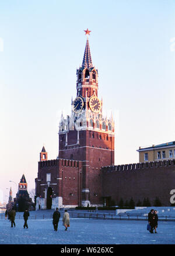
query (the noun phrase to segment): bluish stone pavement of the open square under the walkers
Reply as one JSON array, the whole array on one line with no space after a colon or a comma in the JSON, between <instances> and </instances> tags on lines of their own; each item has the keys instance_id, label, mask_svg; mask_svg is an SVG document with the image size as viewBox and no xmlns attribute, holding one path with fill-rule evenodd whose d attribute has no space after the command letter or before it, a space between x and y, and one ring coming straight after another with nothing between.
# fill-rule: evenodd
<instances>
[{"instance_id":1,"label":"bluish stone pavement of the open square under the walkers","mask_svg":"<svg viewBox=\"0 0 175 256\"><path fill-rule=\"evenodd\" d=\"M9 220L0 217L0 244L175 244L174 222L159 222L158 233L150 234L146 221L73 218L71 227L65 231L61 217L58 231L54 231L50 215L46 219L32 219L32 214L42 216L43 213L30 214L29 229L23 229L24 221L18 218L19 213L15 228L10 227Z\"/></svg>"}]
</instances>

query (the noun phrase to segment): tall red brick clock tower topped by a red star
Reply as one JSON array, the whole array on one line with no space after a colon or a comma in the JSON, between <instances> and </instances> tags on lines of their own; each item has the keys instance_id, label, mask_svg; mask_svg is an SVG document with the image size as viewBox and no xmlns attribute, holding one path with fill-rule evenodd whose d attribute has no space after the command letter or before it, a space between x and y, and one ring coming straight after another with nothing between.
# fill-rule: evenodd
<instances>
[{"instance_id":1,"label":"tall red brick clock tower topped by a red star","mask_svg":"<svg viewBox=\"0 0 175 256\"><path fill-rule=\"evenodd\" d=\"M76 98L71 116L61 115L59 158L82 161L82 206L102 205L100 168L114 165L114 121L102 113L98 71L92 64L88 35L82 67L76 71Z\"/></svg>"}]
</instances>

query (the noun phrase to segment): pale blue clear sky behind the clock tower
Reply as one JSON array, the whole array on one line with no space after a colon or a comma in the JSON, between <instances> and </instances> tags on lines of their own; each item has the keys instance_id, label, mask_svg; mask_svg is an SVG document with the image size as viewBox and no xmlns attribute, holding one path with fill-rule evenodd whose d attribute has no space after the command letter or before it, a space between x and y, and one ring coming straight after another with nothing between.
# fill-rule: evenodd
<instances>
[{"instance_id":1,"label":"pale blue clear sky behind the clock tower","mask_svg":"<svg viewBox=\"0 0 175 256\"><path fill-rule=\"evenodd\" d=\"M87 28L104 115L117 113L115 164L138 162L139 146L175 140L174 17L171 0L1 1L4 199L23 173L34 188L43 143L49 159L58 155L60 113L71 112Z\"/></svg>"}]
</instances>

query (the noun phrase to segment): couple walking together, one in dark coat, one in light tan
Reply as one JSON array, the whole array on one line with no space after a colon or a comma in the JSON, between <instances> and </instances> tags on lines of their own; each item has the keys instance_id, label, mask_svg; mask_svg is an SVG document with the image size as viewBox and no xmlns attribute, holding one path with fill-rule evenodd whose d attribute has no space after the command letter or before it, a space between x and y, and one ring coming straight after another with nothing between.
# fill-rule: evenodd
<instances>
[{"instance_id":1,"label":"couple walking together, one in dark coat, one in light tan","mask_svg":"<svg viewBox=\"0 0 175 256\"><path fill-rule=\"evenodd\" d=\"M53 214L53 225L54 225L54 230L58 230L58 222L60 220L60 212L58 208L56 208L54 214ZM65 226L65 231L68 230L68 227L70 227L70 218L69 218L69 213L68 210L65 210L64 216L62 218L62 225Z\"/></svg>"}]
</instances>

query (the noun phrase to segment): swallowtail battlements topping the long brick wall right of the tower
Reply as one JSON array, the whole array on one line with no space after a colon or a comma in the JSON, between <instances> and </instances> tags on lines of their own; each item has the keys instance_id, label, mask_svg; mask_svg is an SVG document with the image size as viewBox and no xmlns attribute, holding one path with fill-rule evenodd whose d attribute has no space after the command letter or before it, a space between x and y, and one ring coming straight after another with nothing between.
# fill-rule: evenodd
<instances>
[{"instance_id":1,"label":"swallowtail battlements topping the long brick wall right of the tower","mask_svg":"<svg viewBox=\"0 0 175 256\"><path fill-rule=\"evenodd\" d=\"M167 168L170 166L175 167L175 160L138 162L137 164L110 165L110 166L103 166L101 167L101 169L104 172L114 172L114 171L117 172L117 171L141 170L146 168Z\"/></svg>"}]
</instances>

